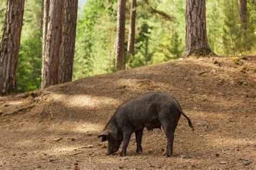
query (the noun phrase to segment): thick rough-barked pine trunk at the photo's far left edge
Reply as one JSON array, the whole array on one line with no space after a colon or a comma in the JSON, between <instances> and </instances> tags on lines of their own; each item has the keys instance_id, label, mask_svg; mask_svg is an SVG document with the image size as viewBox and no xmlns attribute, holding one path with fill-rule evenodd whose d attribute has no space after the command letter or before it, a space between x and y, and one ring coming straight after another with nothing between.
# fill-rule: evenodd
<instances>
[{"instance_id":1,"label":"thick rough-barked pine trunk at the photo's far left edge","mask_svg":"<svg viewBox=\"0 0 256 170\"><path fill-rule=\"evenodd\" d=\"M16 68L23 23L24 0L7 2L0 48L0 93L16 91Z\"/></svg>"}]
</instances>

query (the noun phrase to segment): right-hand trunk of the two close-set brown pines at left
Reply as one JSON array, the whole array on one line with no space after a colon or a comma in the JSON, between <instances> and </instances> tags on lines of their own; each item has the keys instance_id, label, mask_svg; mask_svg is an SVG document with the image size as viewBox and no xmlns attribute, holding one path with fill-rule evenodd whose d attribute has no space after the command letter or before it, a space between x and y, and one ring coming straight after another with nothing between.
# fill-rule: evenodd
<instances>
[{"instance_id":1,"label":"right-hand trunk of the two close-set brown pines at left","mask_svg":"<svg viewBox=\"0 0 256 170\"><path fill-rule=\"evenodd\" d=\"M78 0L65 0L62 21L62 45L59 55L59 83L72 81L77 8Z\"/></svg>"}]
</instances>

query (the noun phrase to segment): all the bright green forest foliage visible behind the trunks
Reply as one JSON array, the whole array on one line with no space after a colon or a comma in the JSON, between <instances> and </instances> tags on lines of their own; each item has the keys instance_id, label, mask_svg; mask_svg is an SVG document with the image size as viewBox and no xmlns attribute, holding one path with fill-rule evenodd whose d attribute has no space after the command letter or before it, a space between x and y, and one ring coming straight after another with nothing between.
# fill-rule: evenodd
<instances>
[{"instance_id":1,"label":"all the bright green forest foliage visible behind the trunks","mask_svg":"<svg viewBox=\"0 0 256 170\"><path fill-rule=\"evenodd\" d=\"M126 42L130 2L126 4ZM185 48L185 1L137 0L134 55L125 56L126 68L134 68L182 57ZM17 86L20 91L37 89L41 81L43 0L26 0L19 49ZM6 0L0 0L0 39ZM81 6L79 6L81 9ZM207 38L219 55L244 55L256 49L256 3L247 1L248 24L242 30L237 0L206 1ZM113 72L116 39L116 0L88 0L78 11L73 78ZM125 49L126 51L126 49ZM127 53L125 53L127 54Z\"/></svg>"}]
</instances>

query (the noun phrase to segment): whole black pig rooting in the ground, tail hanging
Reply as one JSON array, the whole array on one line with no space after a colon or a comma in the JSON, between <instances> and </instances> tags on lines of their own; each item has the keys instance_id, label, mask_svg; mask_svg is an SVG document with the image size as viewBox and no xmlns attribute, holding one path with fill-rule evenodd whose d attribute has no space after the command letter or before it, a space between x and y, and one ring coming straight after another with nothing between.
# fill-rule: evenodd
<instances>
[{"instance_id":1,"label":"whole black pig rooting in the ground, tail hanging","mask_svg":"<svg viewBox=\"0 0 256 170\"><path fill-rule=\"evenodd\" d=\"M171 95L159 92L146 93L120 105L98 137L102 137L102 141L108 141L107 154L117 152L123 141L123 149L120 156L124 156L133 132L136 134L136 151L142 152L143 129L146 127L147 130L152 130L162 126L167 137L165 155L170 157L174 131L181 114L193 129L190 119L184 114L179 103Z\"/></svg>"}]
</instances>

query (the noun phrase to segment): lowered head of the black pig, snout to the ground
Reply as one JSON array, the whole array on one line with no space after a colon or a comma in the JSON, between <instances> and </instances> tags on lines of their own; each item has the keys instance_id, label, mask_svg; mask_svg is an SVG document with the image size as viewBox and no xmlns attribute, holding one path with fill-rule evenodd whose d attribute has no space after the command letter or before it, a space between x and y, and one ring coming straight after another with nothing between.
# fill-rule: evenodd
<instances>
[{"instance_id":1,"label":"lowered head of the black pig, snout to the ground","mask_svg":"<svg viewBox=\"0 0 256 170\"><path fill-rule=\"evenodd\" d=\"M113 154L118 151L120 144L122 143L123 136L122 133L118 133L113 130L104 130L101 132L98 137L102 137L102 141L106 141L109 143L107 147L107 154Z\"/></svg>"}]
</instances>

